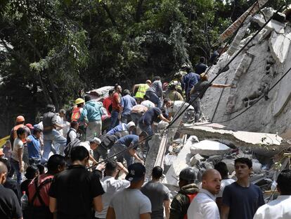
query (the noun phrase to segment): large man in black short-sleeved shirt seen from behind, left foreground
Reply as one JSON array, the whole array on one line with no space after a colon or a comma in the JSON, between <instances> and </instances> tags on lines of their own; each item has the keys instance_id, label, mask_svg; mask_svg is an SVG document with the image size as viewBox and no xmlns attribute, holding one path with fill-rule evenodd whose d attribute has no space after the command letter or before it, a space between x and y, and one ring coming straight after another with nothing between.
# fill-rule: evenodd
<instances>
[{"instance_id":1,"label":"large man in black short-sleeved shirt seen from behind, left foreground","mask_svg":"<svg viewBox=\"0 0 291 219\"><path fill-rule=\"evenodd\" d=\"M86 170L89 152L84 146L71 151L72 165L56 175L49 191L49 208L58 219L91 219L92 203L95 211L103 210L100 180Z\"/></svg>"}]
</instances>

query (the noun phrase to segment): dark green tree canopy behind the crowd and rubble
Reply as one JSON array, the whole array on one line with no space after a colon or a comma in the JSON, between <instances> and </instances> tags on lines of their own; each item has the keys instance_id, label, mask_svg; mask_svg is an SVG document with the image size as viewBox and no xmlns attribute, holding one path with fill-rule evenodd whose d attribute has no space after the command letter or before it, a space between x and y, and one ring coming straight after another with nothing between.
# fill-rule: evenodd
<instances>
[{"instance_id":1,"label":"dark green tree canopy behind the crowd and rubble","mask_svg":"<svg viewBox=\"0 0 291 219\"><path fill-rule=\"evenodd\" d=\"M61 108L82 89L170 79L182 63L209 58L219 34L254 2L3 0L1 126L8 133L18 114L34 123L46 104Z\"/></svg>"}]
</instances>

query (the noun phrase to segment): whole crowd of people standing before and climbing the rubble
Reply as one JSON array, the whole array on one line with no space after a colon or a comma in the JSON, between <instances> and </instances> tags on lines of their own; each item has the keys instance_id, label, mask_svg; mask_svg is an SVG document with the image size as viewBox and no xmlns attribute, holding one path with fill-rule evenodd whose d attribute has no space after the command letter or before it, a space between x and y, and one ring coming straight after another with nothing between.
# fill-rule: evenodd
<instances>
[{"instance_id":1,"label":"whole crowd of people standing before and climbing the rubble","mask_svg":"<svg viewBox=\"0 0 291 219\"><path fill-rule=\"evenodd\" d=\"M176 195L160 182L161 167L145 179L157 123L170 123L186 107L197 123L206 89L230 87L210 84L204 62L195 73L182 65L169 83L154 77L132 92L115 85L102 102L86 95L58 113L48 105L34 125L19 115L0 149L0 218L291 218L290 170L278 175L278 199L265 204L250 182L248 158L235 160L236 181L222 162L203 173L201 184L192 168L183 169Z\"/></svg>"}]
</instances>

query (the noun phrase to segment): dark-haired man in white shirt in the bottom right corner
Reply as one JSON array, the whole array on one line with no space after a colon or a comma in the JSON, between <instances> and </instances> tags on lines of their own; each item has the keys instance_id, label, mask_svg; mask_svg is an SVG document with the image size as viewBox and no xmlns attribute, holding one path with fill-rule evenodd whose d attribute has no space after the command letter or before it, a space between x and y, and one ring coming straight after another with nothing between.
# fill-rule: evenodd
<instances>
[{"instance_id":1,"label":"dark-haired man in white shirt in the bottom right corner","mask_svg":"<svg viewBox=\"0 0 291 219\"><path fill-rule=\"evenodd\" d=\"M254 219L290 219L291 218L291 170L283 170L277 179L280 195L276 200L259 207Z\"/></svg>"}]
</instances>

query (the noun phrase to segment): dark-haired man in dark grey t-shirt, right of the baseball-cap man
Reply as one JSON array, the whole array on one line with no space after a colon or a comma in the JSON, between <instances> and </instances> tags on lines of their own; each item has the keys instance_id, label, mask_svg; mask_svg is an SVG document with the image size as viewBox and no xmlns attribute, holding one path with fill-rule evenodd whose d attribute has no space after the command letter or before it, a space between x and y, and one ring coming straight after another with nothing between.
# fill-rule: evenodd
<instances>
[{"instance_id":1,"label":"dark-haired man in dark grey t-shirt, right of the baseball-cap man","mask_svg":"<svg viewBox=\"0 0 291 219\"><path fill-rule=\"evenodd\" d=\"M152 204L151 219L169 219L169 200L170 192L167 187L160 183L162 177L162 168L155 166L152 170L152 180L141 188L141 192L150 199Z\"/></svg>"}]
</instances>

